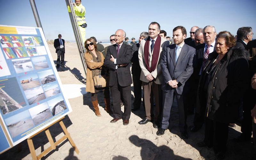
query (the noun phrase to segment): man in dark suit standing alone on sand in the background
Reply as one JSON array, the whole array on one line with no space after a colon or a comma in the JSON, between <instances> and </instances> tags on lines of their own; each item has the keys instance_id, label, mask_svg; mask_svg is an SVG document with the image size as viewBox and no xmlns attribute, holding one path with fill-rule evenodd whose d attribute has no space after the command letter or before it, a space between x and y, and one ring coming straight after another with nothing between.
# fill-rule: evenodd
<instances>
[{"instance_id":1,"label":"man in dark suit standing alone on sand in the background","mask_svg":"<svg viewBox=\"0 0 256 160\"><path fill-rule=\"evenodd\" d=\"M56 68L64 67L64 54L65 54L65 40L61 39L61 34L59 34L58 37L59 37L58 39L54 40L54 44L53 44L58 56Z\"/></svg>"}]
</instances>

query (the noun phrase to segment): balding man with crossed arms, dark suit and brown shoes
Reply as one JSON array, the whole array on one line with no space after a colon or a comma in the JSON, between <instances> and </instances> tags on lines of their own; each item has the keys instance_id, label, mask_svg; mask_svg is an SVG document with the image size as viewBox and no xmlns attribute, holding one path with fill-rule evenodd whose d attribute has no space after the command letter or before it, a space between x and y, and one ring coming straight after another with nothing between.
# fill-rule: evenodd
<instances>
[{"instance_id":1,"label":"balding man with crossed arms, dark suit and brown shoes","mask_svg":"<svg viewBox=\"0 0 256 160\"><path fill-rule=\"evenodd\" d=\"M114 107L114 119L110 123L122 119L123 124L128 125L131 115L131 84L130 60L132 59L132 47L124 44L124 30L117 30L115 33L116 44L109 46L104 64L109 68L109 86L112 92ZM122 92L122 95L120 94ZM120 96L124 102L124 115L122 116Z\"/></svg>"}]
</instances>

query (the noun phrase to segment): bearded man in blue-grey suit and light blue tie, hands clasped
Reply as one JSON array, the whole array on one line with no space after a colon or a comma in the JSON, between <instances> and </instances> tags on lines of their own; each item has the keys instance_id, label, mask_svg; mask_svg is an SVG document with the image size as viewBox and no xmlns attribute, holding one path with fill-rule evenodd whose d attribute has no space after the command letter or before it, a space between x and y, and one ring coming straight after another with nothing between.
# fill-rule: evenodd
<instances>
[{"instance_id":1,"label":"bearded man in blue-grey suit and light blue tie, hands clasped","mask_svg":"<svg viewBox=\"0 0 256 160\"><path fill-rule=\"evenodd\" d=\"M184 43L187 31L183 26L173 29L173 45L164 49L161 61L162 68L162 90L163 90L163 117L161 128L156 135L163 135L169 126L170 113L173 97L175 95L179 108L179 128L181 136L188 138L187 114L183 105L183 87L193 73L193 61L196 49Z\"/></svg>"}]
</instances>

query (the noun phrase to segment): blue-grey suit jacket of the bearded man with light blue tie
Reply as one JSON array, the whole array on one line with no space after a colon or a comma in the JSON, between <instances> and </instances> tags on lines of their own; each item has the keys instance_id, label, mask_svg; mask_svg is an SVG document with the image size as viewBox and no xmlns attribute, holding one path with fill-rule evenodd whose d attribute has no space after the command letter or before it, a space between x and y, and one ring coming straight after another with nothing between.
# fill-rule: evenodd
<instances>
[{"instance_id":1,"label":"blue-grey suit jacket of the bearded man with light blue tie","mask_svg":"<svg viewBox=\"0 0 256 160\"><path fill-rule=\"evenodd\" d=\"M193 62L195 60L196 49L186 44L180 51L177 63L175 62L175 48L176 45L169 45L164 49L162 57L161 68L163 74L162 90L170 91L173 88L166 84L170 80L177 79L179 81L176 91L182 94L185 82L193 73Z\"/></svg>"}]
</instances>

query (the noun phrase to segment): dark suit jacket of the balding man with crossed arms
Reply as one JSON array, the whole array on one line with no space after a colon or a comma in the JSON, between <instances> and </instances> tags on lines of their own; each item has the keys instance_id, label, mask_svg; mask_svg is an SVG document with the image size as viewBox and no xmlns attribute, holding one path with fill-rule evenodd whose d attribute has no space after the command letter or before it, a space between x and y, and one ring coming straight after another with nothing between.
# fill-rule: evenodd
<instances>
[{"instance_id":1,"label":"dark suit jacket of the balding man with crossed arms","mask_svg":"<svg viewBox=\"0 0 256 160\"><path fill-rule=\"evenodd\" d=\"M128 86L132 84L132 76L130 71L130 60L132 59L132 46L122 44L118 57L116 44L108 46L107 55L104 64L109 68L109 86L113 86L115 82L116 64L110 61L111 55L116 59L116 64L128 64L124 67L117 67L117 79L120 86Z\"/></svg>"}]
</instances>

